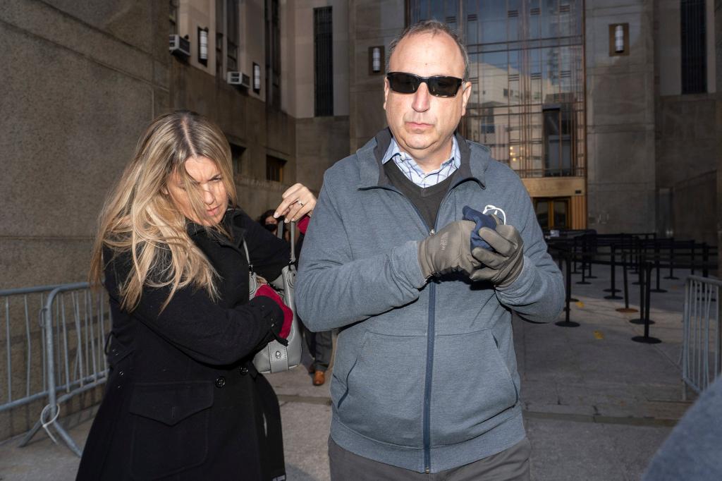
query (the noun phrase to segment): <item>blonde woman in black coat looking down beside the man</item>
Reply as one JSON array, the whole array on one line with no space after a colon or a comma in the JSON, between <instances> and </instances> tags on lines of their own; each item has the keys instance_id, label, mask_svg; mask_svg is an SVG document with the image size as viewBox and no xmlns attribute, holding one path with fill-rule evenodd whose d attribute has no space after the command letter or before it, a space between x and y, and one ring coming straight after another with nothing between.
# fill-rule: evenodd
<instances>
[{"instance_id":1,"label":"blonde woman in black coat looking down beside the man","mask_svg":"<svg viewBox=\"0 0 722 481\"><path fill-rule=\"evenodd\" d=\"M316 204L296 184L277 215ZM108 386L79 480L284 479L277 397L253 355L290 329L268 286L248 300L248 262L279 276L289 246L236 206L222 131L188 111L160 116L102 214L91 279L110 295Z\"/></svg>"}]
</instances>

